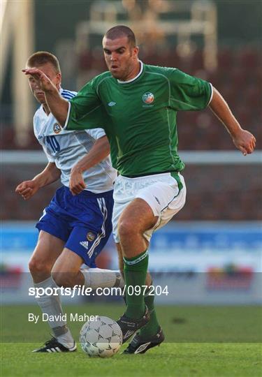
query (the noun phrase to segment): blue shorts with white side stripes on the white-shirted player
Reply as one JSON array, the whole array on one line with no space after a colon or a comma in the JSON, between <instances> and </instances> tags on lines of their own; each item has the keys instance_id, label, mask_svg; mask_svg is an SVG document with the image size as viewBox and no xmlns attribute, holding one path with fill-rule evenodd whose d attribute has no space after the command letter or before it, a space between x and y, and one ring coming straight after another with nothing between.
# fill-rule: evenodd
<instances>
[{"instance_id":1,"label":"blue shorts with white side stripes on the white-shirted player","mask_svg":"<svg viewBox=\"0 0 262 377\"><path fill-rule=\"evenodd\" d=\"M112 232L113 204L112 191L82 191L73 196L68 187L62 186L43 210L36 228L62 239L64 247L93 268Z\"/></svg>"}]
</instances>

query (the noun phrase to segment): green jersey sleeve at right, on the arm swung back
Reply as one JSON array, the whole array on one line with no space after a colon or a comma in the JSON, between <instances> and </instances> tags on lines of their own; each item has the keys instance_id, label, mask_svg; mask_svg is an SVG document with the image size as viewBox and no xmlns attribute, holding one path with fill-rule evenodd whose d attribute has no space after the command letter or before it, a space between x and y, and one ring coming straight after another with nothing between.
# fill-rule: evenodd
<instances>
[{"instance_id":1,"label":"green jersey sleeve at right, on the arm swung back","mask_svg":"<svg viewBox=\"0 0 262 377\"><path fill-rule=\"evenodd\" d=\"M168 71L170 106L174 110L203 110L212 99L212 84L178 69Z\"/></svg>"}]
</instances>

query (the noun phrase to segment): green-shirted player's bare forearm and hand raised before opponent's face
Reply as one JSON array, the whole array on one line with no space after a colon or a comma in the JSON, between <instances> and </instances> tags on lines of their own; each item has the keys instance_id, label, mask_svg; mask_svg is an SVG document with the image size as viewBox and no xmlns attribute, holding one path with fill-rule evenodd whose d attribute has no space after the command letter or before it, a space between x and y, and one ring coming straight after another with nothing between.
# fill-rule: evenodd
<instances>
[{"instance_id":1,"label":"green-shirted player's bare forearm and hand raised before opponent's face","mask_svg":"<svg viewBox=\"0 0 262 377\"><path fill-rule=\"evenodd\" d=\"M38 82L39 87L45 92L45 98L50 112L52 112L59 124L64 127L68 112L68 101L60 96L57 88L54 86L48 76L46 76L40 69L27 68L23 69L22 71L26 75L33 76L36 82Z\"/></svg>"}]
</instances>

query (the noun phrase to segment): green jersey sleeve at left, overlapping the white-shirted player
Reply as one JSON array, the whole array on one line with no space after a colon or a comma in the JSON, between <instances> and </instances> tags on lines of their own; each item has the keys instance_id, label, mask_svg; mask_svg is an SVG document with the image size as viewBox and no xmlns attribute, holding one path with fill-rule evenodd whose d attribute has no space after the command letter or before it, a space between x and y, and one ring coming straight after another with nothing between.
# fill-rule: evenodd
<instances>
[{"instance_id":1,"label":"green jersey sleeve at left, overlapping the white-shirted player","mask_svg":"<svg viewBox=\"0 0 262 377\"><path fill-rule=\"evenodd\" d=\"M96 94L94 80L87 82L78 94L69 101L65 128L81 130L101 126L102 103Z\"/></svg>"}]
</instances>

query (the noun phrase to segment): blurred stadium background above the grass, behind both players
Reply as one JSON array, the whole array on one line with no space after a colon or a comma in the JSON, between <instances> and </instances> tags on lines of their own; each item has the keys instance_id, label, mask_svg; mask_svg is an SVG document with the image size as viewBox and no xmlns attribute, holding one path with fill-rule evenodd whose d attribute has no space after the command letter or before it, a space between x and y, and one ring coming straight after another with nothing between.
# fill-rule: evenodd
<instances>
[{"instance_id":1,"label":"blurred stadium background above the grass, behind both players","mask_svg":"<svg viewBox=\"0 0 262 377\"><path fill-rule=\"evenodd\" d=\"M53 52L63 87L78 90L105 69L103 32L124 23L138 35L145 63L210 80L257 140L256 152L244 157L210 110L178 114L188 194L184 209L152 239L150 269L170 291L159 304L261 304L261 2L2 1L1 10L2 302L34 304L27 293L34 223L57 186L29 202L14 192L45 165L24 62L37 50ZM99 265L116 264L111 241Z\"/></svg>"}]
</instances>

